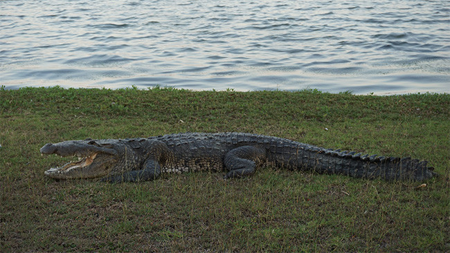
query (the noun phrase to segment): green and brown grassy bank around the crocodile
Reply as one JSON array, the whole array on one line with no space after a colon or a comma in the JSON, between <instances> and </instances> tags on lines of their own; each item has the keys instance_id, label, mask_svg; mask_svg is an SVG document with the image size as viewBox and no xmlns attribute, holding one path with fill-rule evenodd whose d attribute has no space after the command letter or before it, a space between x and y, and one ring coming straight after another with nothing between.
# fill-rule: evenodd
<instances>
[{"instance_id":1,"label":"green and brown grassy bank around the crocodile","mask_svg":"<svg viewBox=\"0 0 450 253\"><path fill-rule=\"evenodd\" d=\"M450 95L0 90L0 252L449 252ZM47 142L242 131L429 160L420 183L262 168L251 178L51 180Z\"/></svg>"}]
</instances>

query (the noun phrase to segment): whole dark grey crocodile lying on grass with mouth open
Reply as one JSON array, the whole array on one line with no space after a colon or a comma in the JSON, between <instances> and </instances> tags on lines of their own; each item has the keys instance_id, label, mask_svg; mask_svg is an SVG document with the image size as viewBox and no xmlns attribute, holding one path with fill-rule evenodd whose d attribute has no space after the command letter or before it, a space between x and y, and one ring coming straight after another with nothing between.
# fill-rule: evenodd
<instances>
[{"instance_id":1,"label":"whole dark grey crocodile lying on grass with mouth open","mask_svg":"<svg viewBox=\"0 0 450 253\"><path fill-rule=\"evenodd\" d=\"M433 167L427 167L427 161L325 149L251 133L69 140L45 144L40 152L78 157L78 161L45 171L50 178L100 178L107 182L138 182L154 180L163 173L225 169L228 172L224 178L241 178L261 166L384 180L424 181L438 176Z\"/></svg>"}]
</instances>

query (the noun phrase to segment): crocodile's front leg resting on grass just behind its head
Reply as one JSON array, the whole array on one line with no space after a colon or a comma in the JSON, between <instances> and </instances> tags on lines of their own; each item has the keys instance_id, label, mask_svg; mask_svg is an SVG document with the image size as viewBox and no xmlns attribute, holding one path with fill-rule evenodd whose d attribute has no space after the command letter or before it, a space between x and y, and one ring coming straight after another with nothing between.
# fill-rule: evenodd
<instances>
[{"instance_id":1,"label":"crocodile's front leg resting on grass just behind its head","mask_svg":"<svg viewBox=\"0 0 450 253\"><path fill-rule=\"evenodd\" d=\"M124 174L108 176L102 178L106 182L140 182L150 181L159 177L161 174L161 167L156 160L147 160L144 163L143 169L136 171L127 171Z\"/></svg>"}]
</instances>

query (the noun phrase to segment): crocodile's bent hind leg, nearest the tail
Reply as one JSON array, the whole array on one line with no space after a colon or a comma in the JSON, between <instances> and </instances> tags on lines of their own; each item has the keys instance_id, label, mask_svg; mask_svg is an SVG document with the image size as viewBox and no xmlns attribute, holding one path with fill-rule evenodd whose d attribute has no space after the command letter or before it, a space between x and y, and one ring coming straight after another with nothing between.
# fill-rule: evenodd
<instances>
[{"instance_id":1,"label":"crocodile's bent hind leg, nearest the tail","mask_svg":"<svg viewBox=\"0 0 450 253\"><path fill-rule=\"evenodd\" d=\"M224 164L228 173L224 178L242 178L255 172L257 164L266 159L265 149L253 146L243 146L231 149L226 153Z\"/></svg>"}]
</instances>

